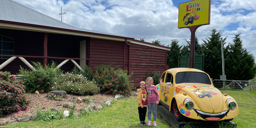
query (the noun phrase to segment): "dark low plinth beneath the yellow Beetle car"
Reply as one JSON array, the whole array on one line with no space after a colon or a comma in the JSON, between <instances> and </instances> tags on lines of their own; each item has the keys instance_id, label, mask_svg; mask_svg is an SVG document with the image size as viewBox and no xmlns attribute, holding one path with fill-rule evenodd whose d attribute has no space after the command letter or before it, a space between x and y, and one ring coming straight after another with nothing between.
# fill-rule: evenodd
<instances>
[{"instance_id":1,"label":"dark low plinth beneath the yellow Beetle car","mask_svg":"<svg viewBox=\"0 0 256 128\"><path fill-rule=\"evenodd\" d=\"M224 126L226 125L232 125L234 127L236 127L236 123L232 122L232 121L189 121L189 122L179 122L176 121L174 119L174 117L169 113L169 111L165 108L164 105L160 104L157 105L157 109L156 111L162 116L164 117L164 119L172 125L172 127L174 128L181 128L184 127L188 124L193 125L196 128L214 128L214 127L218 127L218 125L223 124Z\"/></svg>"}]
</instances>

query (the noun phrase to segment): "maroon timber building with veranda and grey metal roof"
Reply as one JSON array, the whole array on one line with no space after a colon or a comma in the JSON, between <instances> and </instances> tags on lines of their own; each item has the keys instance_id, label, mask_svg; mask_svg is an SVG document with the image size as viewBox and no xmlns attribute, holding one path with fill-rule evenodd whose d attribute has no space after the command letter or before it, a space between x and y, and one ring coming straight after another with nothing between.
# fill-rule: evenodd
<instances>
[{"instance_id":1,"label":"maroon timber building with veranda and grey metal roof","mask_svg":"<svg viewBox=\"0 0 256 128\"><path fill-rule=\"evenodd\" d=\"M133 72L135 86L147 71L168 69L170 47L132 37L76 28L11 0L0 1L0 70L17 74L32 62L57 62L64 71L74 66L113 63ZM149 52L150 51L150 52Z\"/></svg>"}]
</instances>

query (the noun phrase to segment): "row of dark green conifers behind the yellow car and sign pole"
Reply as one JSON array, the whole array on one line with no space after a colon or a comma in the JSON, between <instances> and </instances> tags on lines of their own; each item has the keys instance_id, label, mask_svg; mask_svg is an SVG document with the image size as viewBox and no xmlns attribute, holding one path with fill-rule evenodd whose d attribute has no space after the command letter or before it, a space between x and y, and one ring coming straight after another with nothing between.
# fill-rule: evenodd
<instances>
[{"instance_id":1,"label":"row of dark green conifers behind the yellow car and sign pole","mask_svg":"<svg viewBox=\"0 0 256 128\"><path fill-rule=\"evenodd\" d=\"M220 79L222 75L222 57L221 57L221 36L222 32L213 28L211 34L199 44L199 40L195 37L195 52L204 55L204 72L214 79ZM225 75L227 80L250 80L256 75L256 67L254 66L255 57L244 48L241 40L241 34L238 33L232 37L232 43L226 43L227 37L223 39L223 52L225 61ZM140 38L144 41L144 38ZM179 45L177 39L172 39L168 47L171 51L167 51L167 65L169 68L178 68L178 58L190 52L190 39L186 40L186 45ZM161 44L158 40L150 43ZM227 45L225 45L227 44Z\"/></svg>"}]
</instances>

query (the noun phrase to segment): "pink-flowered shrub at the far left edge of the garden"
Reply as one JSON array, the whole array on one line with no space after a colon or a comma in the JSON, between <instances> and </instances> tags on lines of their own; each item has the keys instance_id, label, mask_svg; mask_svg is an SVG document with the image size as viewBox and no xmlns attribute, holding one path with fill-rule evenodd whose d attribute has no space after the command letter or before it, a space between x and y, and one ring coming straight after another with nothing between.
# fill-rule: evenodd
<instances>
[{"instance_id":1,"label":"pink-flowered shrub at the far left edge of the garden","mask_svg":"<svg viewBox=\"0 0 256 128\"><path fill-rule=\"evenodd\" d=\"M0 116L27 108L25 86L10 72L0 72Z\"/></svg>"}]
</instances>

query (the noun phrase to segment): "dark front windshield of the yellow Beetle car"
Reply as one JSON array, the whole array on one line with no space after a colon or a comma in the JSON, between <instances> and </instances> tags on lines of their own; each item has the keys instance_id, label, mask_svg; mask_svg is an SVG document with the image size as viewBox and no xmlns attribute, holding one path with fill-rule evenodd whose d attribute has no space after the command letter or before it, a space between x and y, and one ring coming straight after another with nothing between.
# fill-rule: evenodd
<instances>
[{"instance_id":1,"label":"dark front windshield of the yellow Beetle car","mask_svg":"<svg viewBox=\"0 0 256 128\"><path fill-rule=\"evenodd\" d=\"M202 72L179 72L175 76L175 83L211 84L210 78Z\"/></svg>"}]
</instances>

